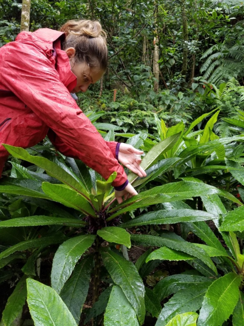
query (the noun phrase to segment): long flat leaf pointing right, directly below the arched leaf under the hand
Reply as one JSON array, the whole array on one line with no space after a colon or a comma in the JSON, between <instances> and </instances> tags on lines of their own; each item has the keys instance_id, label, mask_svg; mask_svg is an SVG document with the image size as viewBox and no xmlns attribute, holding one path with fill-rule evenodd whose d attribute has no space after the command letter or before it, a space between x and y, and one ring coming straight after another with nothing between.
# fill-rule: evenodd
<instances>
[{"instance_id":1,"label":"long flat leaf pointing right, directly below the arched leaf under the hand","mask_svg":"<svg viewBox=\"0 0 244 326\"><path fill-rule=\"evenodd\" d=\"M164 209L141 215L137 219L121 224L120 227L131 228L140 225L207 221L214 219L214 217L218 218L218 216L196 209Z\"/></svg>"}]
</instances>

